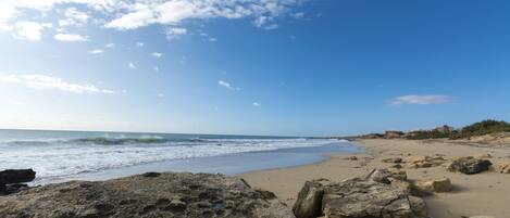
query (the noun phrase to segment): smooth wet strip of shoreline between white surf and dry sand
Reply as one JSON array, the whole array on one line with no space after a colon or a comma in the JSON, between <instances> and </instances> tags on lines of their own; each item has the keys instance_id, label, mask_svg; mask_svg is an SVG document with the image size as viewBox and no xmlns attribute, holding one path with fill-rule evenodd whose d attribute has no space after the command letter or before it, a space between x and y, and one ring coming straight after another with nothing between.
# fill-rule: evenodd
<instances>
[{"instance_id":1,"label":"smooth wet strip of shoreline between white surf and dry sand","mask_svg":"<svg viewBox=\"0 0 510 218\"><path fill-rule=\"evenodd\" d=\"M101 171L84 172L66 177L37 178L30 185L45 185L61 183L72 180L79 181L104 181L139 175L147 171L156 172L207 172L238 176L251 171L281 169L287 167L306 166L326 161L324 154L329 153L354 153L357 145L348 142L332 142L331 144L306 148L288 148L270 151L252 151L233 153L217 156L184 158L146 163L140 165L111 168ZM260 162L263 159L263 162ZM238 165L237 163L244 163Z\"/></svg>"}]
</instances>

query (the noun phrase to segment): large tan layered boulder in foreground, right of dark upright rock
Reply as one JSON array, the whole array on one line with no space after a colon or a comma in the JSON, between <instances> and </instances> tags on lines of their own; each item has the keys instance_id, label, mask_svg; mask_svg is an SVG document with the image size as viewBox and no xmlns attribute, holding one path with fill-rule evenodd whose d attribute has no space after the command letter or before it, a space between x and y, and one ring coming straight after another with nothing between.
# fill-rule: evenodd
<instances>
[{"instance_id":1,"label":"large tan layered boulder in foreground, right of dark upright rock","mask_svg":"<svg viewBox=\"0 0 510 218\"><path fill-rule=\"evenodd\" d=\"M423 200L408 190L360 178L324 187L323 214L327 218L425 218Z\"/></svg>"}]
</instances>

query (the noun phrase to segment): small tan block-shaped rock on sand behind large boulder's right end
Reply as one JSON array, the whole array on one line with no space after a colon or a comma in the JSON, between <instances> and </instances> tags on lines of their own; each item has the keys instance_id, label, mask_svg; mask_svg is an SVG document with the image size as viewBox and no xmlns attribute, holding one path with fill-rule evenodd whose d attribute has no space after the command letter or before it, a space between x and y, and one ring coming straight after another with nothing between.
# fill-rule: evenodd
<instances>
[{"instance_id":1,"label":"small tan block-shaped rock on sand behind large boulder's right end","mask_svg":"<svg viewBox=\"0 0 510 218\"><path fill-rule=\"evenodd\" d=\"M448 178L432 179L432 180L415 180L411 181L411 194L414 196L428 196L434 192L449 192L451 191L451 181Z\"/></svg>"}]
</instances>

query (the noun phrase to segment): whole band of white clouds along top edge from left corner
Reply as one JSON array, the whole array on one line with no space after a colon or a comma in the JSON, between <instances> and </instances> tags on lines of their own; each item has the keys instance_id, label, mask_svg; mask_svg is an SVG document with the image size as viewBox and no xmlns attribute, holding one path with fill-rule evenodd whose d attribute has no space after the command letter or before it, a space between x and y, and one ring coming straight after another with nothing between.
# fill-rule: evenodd
<instances>
[{"instance_id":1,"label":"whole band of white clouds along top edge from left corner","mask_svg":"<svg viewBox=\"0 0 510 218\"><path fill-rule=\"evenodd\" d=\"M278 17L302 16L302 12L293 12L302 1L306 0L0 0L0 30L9 30L13 20L33 12L49 17L57 12L54 16L62 27L94 21L90 23L127 30L149 25L175 27L188 21L248 18L258 27L274 29ZM57 5L72 8L61 11Z\"/></svg>"}]
</instances>

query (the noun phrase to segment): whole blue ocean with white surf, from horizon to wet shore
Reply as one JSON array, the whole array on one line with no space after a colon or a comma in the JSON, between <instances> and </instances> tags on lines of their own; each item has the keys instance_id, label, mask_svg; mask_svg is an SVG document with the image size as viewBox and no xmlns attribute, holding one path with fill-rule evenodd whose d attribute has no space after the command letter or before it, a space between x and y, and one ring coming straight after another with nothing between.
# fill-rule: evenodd
<instances>
[{"instance_id":1,"label":"whole blue ocean with white surf, from horizon to wet shore","mask_svg":"<svg viewBox=\"0 0 510 218\"><path fill-rule=\"evenodd\" d=\"M34 184L145 171L235 175L336 152L359 150L344 140L296 137L0 130L0 170L33 168Z\"/></svg>"}]
</instances>

